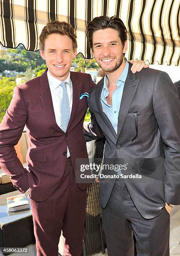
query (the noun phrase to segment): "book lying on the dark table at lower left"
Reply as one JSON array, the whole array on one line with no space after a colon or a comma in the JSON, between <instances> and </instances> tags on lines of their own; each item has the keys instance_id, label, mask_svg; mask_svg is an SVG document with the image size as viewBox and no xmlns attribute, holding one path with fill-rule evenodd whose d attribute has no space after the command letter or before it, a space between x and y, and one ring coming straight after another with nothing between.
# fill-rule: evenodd
<instances>
[{"instance_id":1,"label":"book lying on the dark table at lower left","mask_svg":"<svg viewBox=\"0 0 180 256\"><path fill-rule=\"evenodd\" d=\"M14 212L24 209L29 209L28 197L25 194L7 197L8 212Z\"/></svg>"}]
</instances>

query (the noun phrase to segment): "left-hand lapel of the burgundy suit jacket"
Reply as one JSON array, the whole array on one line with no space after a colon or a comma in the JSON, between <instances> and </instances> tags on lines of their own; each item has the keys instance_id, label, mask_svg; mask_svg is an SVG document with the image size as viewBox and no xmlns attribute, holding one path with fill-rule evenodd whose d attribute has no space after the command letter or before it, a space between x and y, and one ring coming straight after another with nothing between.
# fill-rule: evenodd
<instances>
[{"instance_id":1,"label":"left-hand lapel of the burgundy suit jacket","mask_svg":"<svg viewBox=\"0 0 180 256\"><path fill-rule=\"evenodd\" d=\"M40 77L40 101L52 128L54 128L59 133L64 133L60 129L60 127L57 125L55 120L55 113L54 113L54 108L52 104L52 96L50 92L49 82L47 79L47 69Z\"/></svg>"}]
</instances>

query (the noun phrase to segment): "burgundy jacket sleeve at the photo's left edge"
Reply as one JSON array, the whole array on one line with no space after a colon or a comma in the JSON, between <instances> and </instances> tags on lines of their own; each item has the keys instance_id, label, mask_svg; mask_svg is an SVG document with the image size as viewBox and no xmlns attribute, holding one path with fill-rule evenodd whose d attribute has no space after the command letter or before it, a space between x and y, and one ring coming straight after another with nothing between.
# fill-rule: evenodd
<instances>
[{"instance_id":1,"label":"burgundy jacket sleeve at the photo's left edge","mask_svg":"<svg viewBox=\"0 0 180 256\"><path fill-rule=\"evenodd\" d=\"M14 88L13 99L0 124L0 165L5 174L10 175L11 182L21 192L29 188L27 169L23 167L15 151L28 113L19 87Z\"/></svg>"}]
</instances>

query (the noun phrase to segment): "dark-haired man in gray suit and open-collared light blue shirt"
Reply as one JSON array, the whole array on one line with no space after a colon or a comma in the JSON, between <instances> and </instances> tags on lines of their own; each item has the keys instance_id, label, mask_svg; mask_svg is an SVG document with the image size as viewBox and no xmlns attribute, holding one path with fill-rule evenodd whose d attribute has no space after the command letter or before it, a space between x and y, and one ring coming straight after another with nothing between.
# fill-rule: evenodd
<instances>
[{"instance_id":1,"label":"dark-haired man in gray suit and open-collared light blue shirt","mask_svg":"<svg viewBox=\"0 0 180 256\"><path fill-rule=\"evenodd\" d=\"M108 255L133 256L134 233L138 256L168 256L170 210L180 204L178 91L165 72L130 72L119 18L94 18L87 38L106 75L89 93L85 137L105 136L104 164L126 163L119 175L100 179Z\"/></svg>"}]
</instances>

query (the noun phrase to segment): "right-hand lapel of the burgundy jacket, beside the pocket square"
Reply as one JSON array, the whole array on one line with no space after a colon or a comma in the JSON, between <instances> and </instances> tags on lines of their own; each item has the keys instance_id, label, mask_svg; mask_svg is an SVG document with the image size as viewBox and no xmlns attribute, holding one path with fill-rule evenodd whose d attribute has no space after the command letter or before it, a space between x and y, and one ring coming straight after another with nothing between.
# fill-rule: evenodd
<instances>
[{"instance_id":1,"label":"right-hand lapel of the burgundy jacket, beside the pocket square","mask_svg":"<svg viewBox=\"0 0 180 256\"><path fill-rule=\"evenodd\" d=\"M70 120L67 126L67 130L70 127L70 124L72 123L72 120L74 118L77 105L79 103L81 88L82 88L82 81L78 79L78 77L75 75L75 73L70 72L70 79L72 82L72 110L70 115Z\"/></svg>"}]
</instances>

